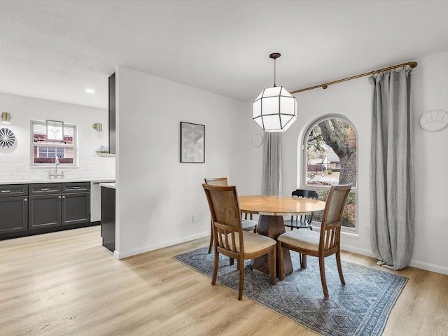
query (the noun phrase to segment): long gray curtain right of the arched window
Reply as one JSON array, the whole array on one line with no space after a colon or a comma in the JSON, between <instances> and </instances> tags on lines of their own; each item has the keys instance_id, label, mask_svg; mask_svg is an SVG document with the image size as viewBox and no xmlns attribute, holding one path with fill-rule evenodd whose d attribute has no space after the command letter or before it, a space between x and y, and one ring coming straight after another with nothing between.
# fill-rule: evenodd
<instances>
[{"instance_id":1,"label":"long gray curtain right of the arched window","mask_svg":"<svg viewBox=\"0 0 448 336\"><path fill-rule=\"evenodd\" d=\"M414 250L414 111L411 71L380 73L372 84L370 243L378 264L409 265Z\"/></svg>"}]
</instances>

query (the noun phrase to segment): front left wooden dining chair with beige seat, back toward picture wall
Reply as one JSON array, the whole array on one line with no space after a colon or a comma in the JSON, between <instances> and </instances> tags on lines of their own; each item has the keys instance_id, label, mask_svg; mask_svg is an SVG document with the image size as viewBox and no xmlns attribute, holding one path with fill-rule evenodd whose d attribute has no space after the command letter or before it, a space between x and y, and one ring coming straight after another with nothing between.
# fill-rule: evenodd
<instances>
[{"instance_id":1,"label":"front left wooden dining chair with beige seat, back toward picture wall","mask_svg":"<svg viewBox=\"0 0 448 336\"><path fill-rule=\"evenodd\" d=\"M266 255L270 263L270 283L275 285L276 241L272 238L244 231L235 186L202 185L209 202L214 225L214 270L211 284L216 283L219 253L237 259L239 269L238 300L243 297L244 260Z\"/></svg>"}]
</instances>

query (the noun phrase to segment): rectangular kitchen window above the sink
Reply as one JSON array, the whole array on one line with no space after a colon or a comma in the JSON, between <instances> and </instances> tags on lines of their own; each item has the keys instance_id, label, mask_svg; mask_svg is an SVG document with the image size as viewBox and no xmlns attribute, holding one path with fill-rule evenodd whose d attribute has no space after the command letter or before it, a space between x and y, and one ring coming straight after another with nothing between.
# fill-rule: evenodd
<instances>
[{"instance_id":1,"label":"rectangular kitchen window above the sink","mask_svg":"<svg viewBox=\"0 0 448 336\"><path fill-rule=\"evenodd\" d=\"M56 157L60 165L77 165L76 125L55 120L31 120L31 166L54 165Z\"/></svg>"}]
</instances>

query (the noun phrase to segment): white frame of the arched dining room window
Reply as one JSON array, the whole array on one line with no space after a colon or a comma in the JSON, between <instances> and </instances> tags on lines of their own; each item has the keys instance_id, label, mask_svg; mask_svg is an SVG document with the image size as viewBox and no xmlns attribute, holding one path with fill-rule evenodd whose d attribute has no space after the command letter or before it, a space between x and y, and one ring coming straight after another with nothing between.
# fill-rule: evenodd
<instances>
[{"instance_id":1,"label":"white frame of the arched dining room window","mask_svg":"<svg viewBox=\"0 0 448 336\"><path fill-rule=\"evenodd\" d=\"M356 151L358 151L358 132L356 130L356 127L353 125L353 123L351 122L351 120L349 120L349 118L346 118L346 116L342 116L340 114L326 114L325 116L321 116L317 119L315 119L314 121L312 121L311 123L309 123L307 129L305 130L304 134L302 135L302 139L300 139L301 142L301 146L299 148L302 149L302 151L300 151L300 155L298 155L300 158L302 158L302 162L301 162L301 173L300 174L300 186L297 186L297 188L302 188L302 189L311 189L311 190L330 190L330 186L314 186L314 185L309 185L307 184L307 142L308 142L308 137L309 137L309 132L311 132L311 130L316 127L316 125L318 123L320 123L322 120L327 120L327 119L332 119L332 118L337 118L337 119L342 119L345 120L347 123L349 123L351 125L351 127L353 128L353 131L355 132L356 135ZM358 172L358 167L359 167L359 153L357 153L356 155L356 172ZM356 186L353 186L351 188L351 193L354 193L356 195L356 216L355 216L355 228L348 228L346 226L341 226L341 230L343 232L349 232L352 234L358 234L358 174L356 174ZM314 226L314 225L313 225ZM316 227L320 228L320 223L317 224L316 223Z\"/></svg>"}]
</instances>

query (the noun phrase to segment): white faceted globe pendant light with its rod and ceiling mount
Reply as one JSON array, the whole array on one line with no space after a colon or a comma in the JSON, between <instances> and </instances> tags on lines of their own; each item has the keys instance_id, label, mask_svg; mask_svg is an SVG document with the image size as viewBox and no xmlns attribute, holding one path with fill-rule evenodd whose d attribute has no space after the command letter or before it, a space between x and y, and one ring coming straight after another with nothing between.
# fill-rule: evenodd
<instances>
[{"instance_id":1,"label":"white faceted globe pendant light with its rod and ceiling mount","mask_svg":"<svg viewBox=\"0 0 448 336\"><path fill-rule=\"evenodd\" d=\"M265 132L285 132L297 119L295 97L275 85L275 61L280 56L279 52L269 55L274 59L274 86L262 90L253 102L253 120Z\"/></svg>"}]
</instances>

